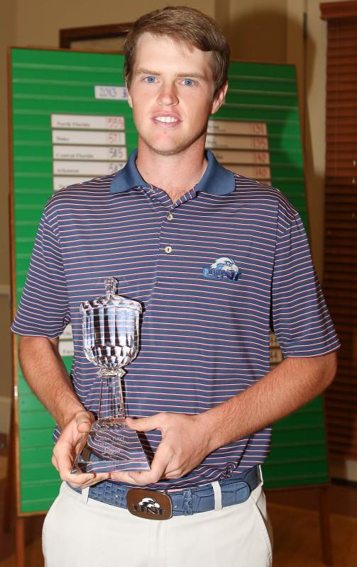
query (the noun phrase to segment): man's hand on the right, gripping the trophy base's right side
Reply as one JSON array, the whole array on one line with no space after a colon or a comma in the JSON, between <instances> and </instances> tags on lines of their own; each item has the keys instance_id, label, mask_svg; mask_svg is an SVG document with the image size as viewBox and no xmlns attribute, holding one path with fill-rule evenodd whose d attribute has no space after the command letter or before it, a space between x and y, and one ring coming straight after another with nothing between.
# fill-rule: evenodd
<instances>
[{"instance_id":1,"label":"man's hand on the right, gripping the trophy base's right side","mask_svg":"<svg viewBox=\"0 0 357 567\"><path fill-rule=\"evenodd\" d=\"M162 412L126 423L136 431L159 430L161 442L155 452L150 471L111 473L110 478L129 484L147 485L161 478L181 478L190 473L211 452L209 432L203 414L185 415Z\"/></svg>"}]
</instances>

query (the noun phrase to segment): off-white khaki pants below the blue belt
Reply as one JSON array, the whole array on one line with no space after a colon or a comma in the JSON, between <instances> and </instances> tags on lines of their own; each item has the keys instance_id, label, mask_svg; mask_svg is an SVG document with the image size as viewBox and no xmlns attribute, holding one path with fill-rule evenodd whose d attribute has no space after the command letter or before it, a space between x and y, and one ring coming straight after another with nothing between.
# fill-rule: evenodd
<instances>
[{"instance_id":1,"label":"off-white khaki pants below the blue belt","mask_svg":"<svg viewBox=\"0 0 357 567\"><path fill-rule=\"evenodd\" d=\"M160 521L86 502L62 483L43 524L43 554L45 567L270 567L268 532L261 485L244 503Z\"/></svg>"}]
</instances>

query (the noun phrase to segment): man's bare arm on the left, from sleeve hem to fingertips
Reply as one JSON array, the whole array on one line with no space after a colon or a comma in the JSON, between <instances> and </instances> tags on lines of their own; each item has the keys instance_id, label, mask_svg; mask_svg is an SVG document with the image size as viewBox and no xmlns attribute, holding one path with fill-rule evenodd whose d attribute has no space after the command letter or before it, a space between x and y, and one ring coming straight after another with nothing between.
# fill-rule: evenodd
<instances>
[{"instance_id":1,"label":"man's bare arm on the left, from sleeve hem to fingertips","mask_svg":"<svg viewBox=\"0 0 357 567\"><path fill-rule=\"evenodd\" d=\"M84 488L108 478L108 473L71 475L82 434L89 431L94 418L73 391L58 352L58 339L21 336L18 357L28 385L62 430L52 459L62 481Z\"/></svg>"}]
</instances>

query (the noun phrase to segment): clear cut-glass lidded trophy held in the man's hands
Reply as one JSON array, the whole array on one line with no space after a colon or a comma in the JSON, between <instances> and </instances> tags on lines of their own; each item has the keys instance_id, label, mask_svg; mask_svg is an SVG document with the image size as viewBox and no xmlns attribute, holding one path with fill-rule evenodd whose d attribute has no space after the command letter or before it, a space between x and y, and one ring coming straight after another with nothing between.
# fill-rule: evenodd
<instances>
[{"instance_id":1,"label":"clear cut-glass lidded trophy held in the man's hands","mask_svg":"<svg viewBox=\"0 0 357 567\"><path fill-rule=\"evenodd\" d=\"M83 434L74 472L148 471L138 434L125 423L121 388L123 366L138 354L141 304L117 295L115 278L104 284L105 296L80 305L84 354L99 367L101 391L98 418Z\"/></svg>"}]
</instances>

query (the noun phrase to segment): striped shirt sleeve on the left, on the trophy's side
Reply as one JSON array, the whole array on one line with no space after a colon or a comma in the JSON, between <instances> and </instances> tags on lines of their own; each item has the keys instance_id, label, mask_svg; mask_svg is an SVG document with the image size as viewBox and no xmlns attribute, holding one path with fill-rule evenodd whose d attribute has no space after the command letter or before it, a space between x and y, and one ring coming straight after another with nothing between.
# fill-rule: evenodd
<instances>
[{"instance_id":1,"label":"striped shirt sleeve on the left, on the trophy's side","mask_svg":"<svg viewBox=\"0 0 357 567\"><path fill-rule=\"evenodd\" d=\"M70 322L60 241L46 212L40 221L21 301L11 330L54 339Z\"/></svg>"}]
</instances>

